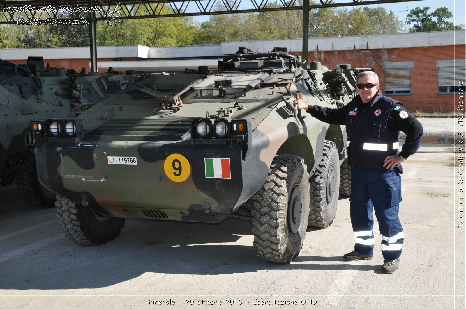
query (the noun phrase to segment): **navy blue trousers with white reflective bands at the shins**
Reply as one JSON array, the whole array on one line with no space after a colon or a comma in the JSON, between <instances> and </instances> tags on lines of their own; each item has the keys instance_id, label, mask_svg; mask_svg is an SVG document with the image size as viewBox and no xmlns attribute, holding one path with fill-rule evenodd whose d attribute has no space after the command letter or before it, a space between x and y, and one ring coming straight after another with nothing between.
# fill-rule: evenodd
<instances>
[{"instance_id":1,"label":"navy blue trousers with white reflective bands at the shins","mask_svg":"<svg viewBox=\"0 0 466 309\"><path fill-rule=\"evenodd\" d=\"M355 250L374 253L374 210L382 236L382 255L394 260L401 255L403 228L398 218L401 202L401 176L393 169L351 169L349 213L355 237Z\"/></svg>"}]
</instances>

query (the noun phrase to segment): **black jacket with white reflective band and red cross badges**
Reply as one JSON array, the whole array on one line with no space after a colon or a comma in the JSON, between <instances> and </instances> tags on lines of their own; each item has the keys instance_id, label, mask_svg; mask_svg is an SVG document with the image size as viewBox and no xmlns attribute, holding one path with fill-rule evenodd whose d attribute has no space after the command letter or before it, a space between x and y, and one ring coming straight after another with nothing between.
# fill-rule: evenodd
<instances>
[{"instance_id":1,"label":"black jacket with white reflective band and red cross badges","mask_svg":"<svg viewBox=\"0 0 466 309\"><path fill-rule=\"evenodd\" d=\"M343 107L309 105L307 112L320 121L346 125L352 168L384 168L384 159L398 153L399 131L406 134L399 155L407 159L418 150L423 134L421 123L403 104L382 95L380 90L368 103L357 95Z\"/></svg>"}]
</instances>

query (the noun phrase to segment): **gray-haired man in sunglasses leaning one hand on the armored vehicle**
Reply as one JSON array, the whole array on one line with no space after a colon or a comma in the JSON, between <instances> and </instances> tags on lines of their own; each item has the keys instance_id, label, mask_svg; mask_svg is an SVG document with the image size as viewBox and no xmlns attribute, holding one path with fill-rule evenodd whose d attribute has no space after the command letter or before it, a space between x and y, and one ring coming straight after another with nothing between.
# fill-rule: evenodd
<instances>
[{"instance_id":1,"label":"gray-haired man in sunglasses leaning one hand on the armored vehicle","mask_svg":"<svg viewBox=\"0 0 466 309\"><path fill-rule=\"evenodd\" d=\"M349 212L356 244L343 255L347 261L370 260L374 253L372 228L375 210L382 236L382 272L393 273L400 263L403 228L398 218L401 202L401 162L416 153L422 138L421 123L398 101L382 95L378 76L364 71L357 76L357 95L340 108L294 101L320 121L346 125L351 167ZM398 154L399 131L406 141Z\"/></svg>"}]
</instances>

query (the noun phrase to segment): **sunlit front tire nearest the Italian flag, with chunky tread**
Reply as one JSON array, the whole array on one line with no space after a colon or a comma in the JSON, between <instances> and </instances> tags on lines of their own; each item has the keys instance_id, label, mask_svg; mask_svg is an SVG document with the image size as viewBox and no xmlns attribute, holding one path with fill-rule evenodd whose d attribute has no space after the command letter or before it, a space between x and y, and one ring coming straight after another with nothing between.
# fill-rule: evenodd
<instances>
[{"instance_id":1,"label":"sunlit front tire nearest the Italian flag, with chunky tread","mask_svg":"<svg viewBox=\"0 0 466 309\"><path fill-rule=\"evenodd\" d=\"M303 159L277 155L252 197L254 247L262 260L289 263L302 248L309 214L309 179Z\"/></svg>"}]
</instances>

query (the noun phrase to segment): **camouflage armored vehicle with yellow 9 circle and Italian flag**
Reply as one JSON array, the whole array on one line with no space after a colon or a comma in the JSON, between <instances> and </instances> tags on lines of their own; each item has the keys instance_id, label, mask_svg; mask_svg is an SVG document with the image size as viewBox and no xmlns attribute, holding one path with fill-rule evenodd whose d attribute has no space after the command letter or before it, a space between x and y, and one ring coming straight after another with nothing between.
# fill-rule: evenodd
<instances>
[{"instance_id":1,"label":"camouflage armored vehicle with yellow 9 circle and Italian flag","mask_svg":"<svg viewBox=\"0 0 466 309\"><path fill-rule=\"evenodd\" d=\"M300 67L242 48L218 73L151 75L78 117L32 121L27 145L67 237L104 244L125 218L233 217L252 222L261 259L291 262L308 225L335 217L346 146L342 127L292 103L337 107L356 94L349 67Z\"/></svg>"}]
</instances>

